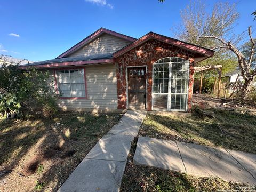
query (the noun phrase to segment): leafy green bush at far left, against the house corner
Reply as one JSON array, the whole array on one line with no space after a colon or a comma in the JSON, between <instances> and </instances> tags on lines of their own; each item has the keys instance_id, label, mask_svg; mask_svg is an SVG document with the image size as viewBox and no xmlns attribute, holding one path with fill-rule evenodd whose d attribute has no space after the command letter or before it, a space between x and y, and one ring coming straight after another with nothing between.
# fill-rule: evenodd
<instances>
[{"instance_id":1,"label":"leafy green bush at far left, against the house corner","mask_svg":"<svg viewBox=\"0 0 256 192\"><path fill-rule=\"evenodd\" d=\"M0 68L0 116L21 118L25 115L52 117L57 97L47 71L4 63Z\"/></svg>"}]
</instances>

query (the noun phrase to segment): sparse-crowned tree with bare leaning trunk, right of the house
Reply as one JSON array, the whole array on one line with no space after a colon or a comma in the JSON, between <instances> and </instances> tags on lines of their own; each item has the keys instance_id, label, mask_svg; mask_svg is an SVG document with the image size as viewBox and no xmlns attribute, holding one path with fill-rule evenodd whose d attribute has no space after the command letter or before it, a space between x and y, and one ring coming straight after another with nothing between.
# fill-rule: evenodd
<instances>
[{"instance_id":1,"label":"sparse-crowned tree with bare leaning trunk, right of the house","mask_svg":"<svg viewBox=\"0 0 256 192\"><path fill-rule=\"evenodd\" d=\"M214 57L201 62L201 65L207 65L209 62L212 65L225 63L223 55L230 55L228 59L235 57L244 78L241 97L246 98L256 75L256 69L253 68L255 42L252 38L251 27L249 27L250 46L246 51L249 54L244 55L244 49L241 49L239 45L243 42L245 33L234 34L238 17L236 4L217 2L211 11L207 11L205 4L201 1L190 2L186 9L181 11L182 24L174 28L174 34L183 41L216 51Z\"/></svg>"}]
</instances>

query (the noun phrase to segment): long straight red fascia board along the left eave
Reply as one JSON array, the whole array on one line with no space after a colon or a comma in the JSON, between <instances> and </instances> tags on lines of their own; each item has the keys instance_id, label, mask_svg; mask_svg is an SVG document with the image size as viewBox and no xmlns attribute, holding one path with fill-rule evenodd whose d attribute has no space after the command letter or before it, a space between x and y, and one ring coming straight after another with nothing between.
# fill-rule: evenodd
<instances>
[{"instance_id":1,"label":"long straight red fascia board along the left eave","mask_svg":"<svg viewBox=\"0 0 256 192\"><path fill-rule=\"evenodd\" d=\"M35 66L20 66L20 69L27 69L29 67L35 68L48 68L48 67L67 67L74 65L86 65L86 64L94 64L94 63L114 63L114 59L98 59L98 60L90 60L90 61L71 61L71 62L61 62L61 63L49 63L44 65L35 65Z\"/></svg>"}]
</instances>

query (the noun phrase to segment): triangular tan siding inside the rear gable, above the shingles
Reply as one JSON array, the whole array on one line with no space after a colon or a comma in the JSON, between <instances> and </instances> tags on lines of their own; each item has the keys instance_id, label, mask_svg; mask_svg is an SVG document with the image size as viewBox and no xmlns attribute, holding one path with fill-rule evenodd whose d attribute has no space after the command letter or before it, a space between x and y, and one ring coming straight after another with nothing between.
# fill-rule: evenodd
<instances>
[{"instance_id":1,"label":"triangular tan siding inside the rear gable, above the shingles","mask_svg":"<svg viewBox=\"0 0 256 192\"><path fill-rule=\"evenodd\" d=\"M68 57L111 54L122 49L124 46L130 43L131 42L126 41L125 39L105 33L94 39L91 43L86 44L76 52L71 53L68 55Z\"/></svg>"}]
</instances>

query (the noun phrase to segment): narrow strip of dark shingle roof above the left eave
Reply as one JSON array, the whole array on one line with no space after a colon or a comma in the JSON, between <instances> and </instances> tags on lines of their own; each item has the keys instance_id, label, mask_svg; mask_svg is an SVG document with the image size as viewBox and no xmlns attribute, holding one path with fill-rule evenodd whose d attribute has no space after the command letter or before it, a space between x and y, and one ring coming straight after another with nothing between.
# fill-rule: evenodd
<instances>
[{"instance_id":1,"label":"narrow strip of dark shingle roof above the left eave","mask_svg":"<svg viewBox=\"0 0 256 192\"><path fill-rule=\"evenodd\" d=\"M99 60L99 59L111 59L112 54L102 54L102 55L93 55L93 56L83 56L83 57L67 57L67 58L59 58L59 59L51 59L46 61L38 61L29 63L21 66L36 66L36 65L44 65L50 63L62 63L62 62L73 62L73 61L91 61L91 60Z\"/></svg>"}]
</instances>

